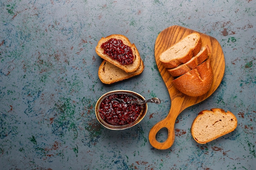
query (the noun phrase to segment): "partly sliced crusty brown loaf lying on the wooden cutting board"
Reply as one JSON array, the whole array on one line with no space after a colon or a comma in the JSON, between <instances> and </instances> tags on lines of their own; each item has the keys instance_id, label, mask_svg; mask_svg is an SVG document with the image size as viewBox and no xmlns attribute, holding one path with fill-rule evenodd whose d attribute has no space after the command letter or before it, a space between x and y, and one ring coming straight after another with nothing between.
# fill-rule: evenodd
<instances>
[{"instance_id":1,"label":"partly sliced crusty brown loaf lying on the wooden cutting board","mask_svg":"<svg viewBox=\"0 0 256 170\"><path fill-rule=\"evenodd\" d=\"M213 83L213 71L208 45L202 46L199 33L191 33L173 44L159 56L159 60L175 78L173 86L189 96L204 95Z\"/></svg>"}]
</instances>

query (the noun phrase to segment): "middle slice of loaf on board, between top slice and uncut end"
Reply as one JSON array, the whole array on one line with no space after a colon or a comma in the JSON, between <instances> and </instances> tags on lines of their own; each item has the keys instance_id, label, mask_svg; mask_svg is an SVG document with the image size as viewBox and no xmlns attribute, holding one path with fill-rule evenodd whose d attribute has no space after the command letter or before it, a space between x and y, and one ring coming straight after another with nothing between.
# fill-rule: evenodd
<instances>
[{"instance_id":1,"label":"middle slice of loaf on board, between top slice and uncut end","mask_svg":"<svg viewBox=\"0 0 256 170\"><path fill-rule=\"evenodd\" d=\"M193 68L198 66L199 64L201 64L202 62L204 62L204 60L207 59L207 57L210 55L210 53L211 52L210 52L210 49L209 49L208 45L202 46L202 48L198 52L198 54L195 55L194 57L192 57L191 60L189 60L185 64L180 64L179 66L177 66L175 68L168 69L168 72L173 77L183 75L186 72L189 72L190 70L192 70Z\"/></svg>"}]
</instances>

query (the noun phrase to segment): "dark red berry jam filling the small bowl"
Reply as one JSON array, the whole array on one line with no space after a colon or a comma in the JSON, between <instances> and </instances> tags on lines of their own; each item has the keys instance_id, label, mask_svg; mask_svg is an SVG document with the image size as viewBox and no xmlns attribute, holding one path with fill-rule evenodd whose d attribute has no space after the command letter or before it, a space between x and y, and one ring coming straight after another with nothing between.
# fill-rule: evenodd
<instances>
[{"instance_id":1,"label":"dark red berry jam filling the small bowl","mask_svg":"<svg viewBox=\"0 0 256 170\"><path fill-rule=\"evenodd\" d=\"M141 105L120 103L115 98L121 99L124 102L137 99L128 94L112 94L105 97L99 106L101 119L114 126L126 125L135 121L141 113Z\"/></svg>"}]
</instances>

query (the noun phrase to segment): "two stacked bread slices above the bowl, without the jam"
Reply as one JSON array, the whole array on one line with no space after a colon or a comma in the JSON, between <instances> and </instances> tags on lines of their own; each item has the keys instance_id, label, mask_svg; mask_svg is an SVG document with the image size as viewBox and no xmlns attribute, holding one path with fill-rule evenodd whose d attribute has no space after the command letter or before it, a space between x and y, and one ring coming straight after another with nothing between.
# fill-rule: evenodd
<instances>
[{"instance_id":1,"label":"two stacked bread slices above the bowl, without the jam","mask_svg":"<svg viewBox=\"0 0 256 170\"><path fill-rule=\"evenodd\" d=\"M121 64L118 60L113 59L106 53L106 51L104 51L101 45L108 42L110 39L121 40L122 44L130 47L132 55L134 56L131 64ZM131 44L129 39L124 35L112 34L106 38L101 38L95 48L95 51L99 57L103 59L103 62L99 66L98 76L104 84L113 84L115 82L128 79L141 74L144 70L144 63L141 60L139 51L135 44Z\"/></svg>"}]
</instances>

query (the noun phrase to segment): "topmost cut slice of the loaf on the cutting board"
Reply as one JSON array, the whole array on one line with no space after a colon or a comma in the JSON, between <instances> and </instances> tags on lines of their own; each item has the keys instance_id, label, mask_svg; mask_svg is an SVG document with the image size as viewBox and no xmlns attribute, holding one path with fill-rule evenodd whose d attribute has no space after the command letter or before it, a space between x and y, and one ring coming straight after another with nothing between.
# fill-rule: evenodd
<instances>
[{"instance_id":1,"label":"topmost cut slice of the loaf on the cutting board","mask_svg":"<svg viewBox=\"0 0 256 170\"><path fill-rule=\"evenodd\" d=\"M159 60L165 68L175 68L182 63L188 62L202 47L199 33L191 33L173 44L159 55Z\"/></svg>"}]
</instances>

